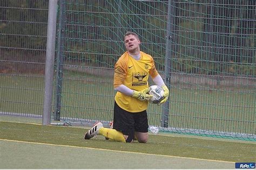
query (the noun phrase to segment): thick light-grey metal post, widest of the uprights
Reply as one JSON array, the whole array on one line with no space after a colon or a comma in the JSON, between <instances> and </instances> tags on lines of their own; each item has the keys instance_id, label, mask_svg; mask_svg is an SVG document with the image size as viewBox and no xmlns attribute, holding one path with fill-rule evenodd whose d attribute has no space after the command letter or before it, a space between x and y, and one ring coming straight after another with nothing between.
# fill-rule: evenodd
<instances>
[{"instance_id":1,"label":"thick light-grey metal post, widest of the uprights","mask_svg":"<svg viewBox=\"0 0 256 170\"><path fill-rule=\"evenodd\" d=\"M44 77L44 106L43 106L43 125L51 123L51 104L53 93L53 65L55 54L56 39L56 18L57 18L57 0L49 1L48 8L48 26L47 42L45 56L45 77Z\"/></svg>"}]
</instances>

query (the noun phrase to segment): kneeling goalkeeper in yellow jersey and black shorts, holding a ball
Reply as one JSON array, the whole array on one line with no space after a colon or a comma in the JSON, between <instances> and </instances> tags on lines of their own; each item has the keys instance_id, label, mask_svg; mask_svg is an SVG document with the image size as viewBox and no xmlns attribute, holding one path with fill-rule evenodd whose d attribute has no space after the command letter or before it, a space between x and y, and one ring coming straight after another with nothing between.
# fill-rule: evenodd
<instances>
[{"instance_id":1,"label":"kneeling goalkeeper in yellow jersey and black shorts, holding a ball","mask_svg":"<svg viewBox=\"0 0 256 170\"><path fill-rule=\"evenodd\" d=\"M140 51L140 39L136 33L127 32L124 44L127 51L120 56L114 65L114 97L113 129L103 128L97 123L85 134L90 139L96 134L106 138L126 143L134 139L146 143L149 124L147 121L147 105L152 95L149 92L149 76L154 83L164 89L164 97L159 102L163 104L169 97L169 89L154 66L151 55Z\"/></svg>"}]
</instances>

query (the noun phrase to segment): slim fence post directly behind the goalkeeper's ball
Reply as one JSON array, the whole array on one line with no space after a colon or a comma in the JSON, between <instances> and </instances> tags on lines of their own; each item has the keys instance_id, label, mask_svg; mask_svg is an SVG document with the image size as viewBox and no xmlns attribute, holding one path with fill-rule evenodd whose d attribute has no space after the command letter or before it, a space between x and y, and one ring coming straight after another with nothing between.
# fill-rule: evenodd
<instances>
[{"instance_id":1,"label":"slim fence post directly behind the goalkeeper's ball","mask_svg":"<svg viewBox=\"0 0 256 170\"><path fill-rule=\"evenodd\" d=\"M171 88L171 57L172 57L172 40L173 40L173 0L168 1L168 16L167 16L167 28L166 28L166 48L165 48L165 76L164 82L166 86ZM169 107L170 102L167 100L163 104L163 111L161 115L161 127L168 128L169 123Z\"/></svg>"}]
</instances>

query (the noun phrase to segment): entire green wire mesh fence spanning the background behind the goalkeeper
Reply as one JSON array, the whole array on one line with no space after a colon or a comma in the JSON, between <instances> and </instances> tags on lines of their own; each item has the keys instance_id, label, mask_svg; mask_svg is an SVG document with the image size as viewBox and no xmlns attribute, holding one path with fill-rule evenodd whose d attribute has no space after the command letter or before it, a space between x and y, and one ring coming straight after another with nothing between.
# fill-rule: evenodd
<instances>
[{"instance_id":1,"label":"entire green wire mesh fence spanning the background behind the goalkeeper","mask_svg":"<svg viewBox=\"0 0 256 170\"><path fill-rule=\"evenodd\" d=\"M48 3L15 2L0 3L0 111L41 117ZM113 66L133 31L170 84L169 102L149 105L150 125L256 139L255 1L84 2L58 1L55 120L112 121Z\"/></svg>"}]
</instances>

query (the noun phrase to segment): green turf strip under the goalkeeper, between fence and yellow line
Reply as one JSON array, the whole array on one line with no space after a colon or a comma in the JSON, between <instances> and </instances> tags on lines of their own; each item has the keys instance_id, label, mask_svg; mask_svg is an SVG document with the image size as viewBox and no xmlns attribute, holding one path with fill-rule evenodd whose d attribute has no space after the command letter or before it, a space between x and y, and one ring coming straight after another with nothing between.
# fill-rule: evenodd
<instances>
[{"instance_id":1,"label":"green turf strip under the goalkeeper, between fence and yellow line","mask_svg":"<svg viewBox=\"0 0 256 170\"><path fill-rule=\"evenodd\" d=\"M106 141L103 136L85 141L83 139L85 131L84 128L63 126L0 123L0 139L231 162L255 162L256 158L255 143L150 134L146 144L137 142L125 144Z\"/></svg>"}]
</instances>

